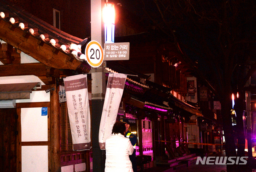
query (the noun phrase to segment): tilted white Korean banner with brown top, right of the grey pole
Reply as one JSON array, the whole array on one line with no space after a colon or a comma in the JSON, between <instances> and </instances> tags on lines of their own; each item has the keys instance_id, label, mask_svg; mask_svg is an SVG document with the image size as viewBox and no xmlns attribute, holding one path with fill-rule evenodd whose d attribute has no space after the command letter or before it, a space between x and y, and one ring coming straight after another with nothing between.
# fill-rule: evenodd
<instances>
[{"instance_id":1,"label":"tilted white Korean banner with brown top, right of the grey pole","mask_svg":"<svg viewBox=\"0 0 256 172\"><path fill-rule=\"evenodd\" d=\"M109 73L99 128L99 146L101 149L105 149L106 138L111 135L113 125L117 120L126 77L127 74Z\"/></svg>"}]
</instances>

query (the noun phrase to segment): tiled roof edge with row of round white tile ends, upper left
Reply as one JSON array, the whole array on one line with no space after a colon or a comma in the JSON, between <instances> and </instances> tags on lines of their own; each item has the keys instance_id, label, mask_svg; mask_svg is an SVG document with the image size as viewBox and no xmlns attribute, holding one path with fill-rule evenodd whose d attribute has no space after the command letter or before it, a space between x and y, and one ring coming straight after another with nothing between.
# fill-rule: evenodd
<instances>
[{"instance_id":1,"label":"tiled roof edge with row of round white tile ends, upper left","mask_svg":"<svg viewBox=\"0 0 256 172\"><path fill-rule=\"evenodd\" d=\"M10 31L14 30L14 28L18 28L19 30L22 30L24 32L25 37L32 36L37 40L40 40L41 44L46 43L47 45L54 47L54 49L56 49L57 51L61 51L66 55L73 57L74 59L76 59L76 61L79 61L80 63L87 63L86 61L84 61L86 57L85 54L81 52L81 46L83 46L87 42L88 38L85 38L83 40L81 38L77 38L75 36L67 34L37 18L36 16L33 16L32 14L26 12L19 6L10 4L8 0L0 1L0 22L6 22L8 24L11 24L13 28L10 28ZM1 27L3 28L4 25L2 25ZM2 32L4 32L3 29L1 30ZM40 44L40 42L38 42L38 44ZM87 65L87 67L89 68L89 70L91 69L89 65Z\"/></svg>"}]
</instances>

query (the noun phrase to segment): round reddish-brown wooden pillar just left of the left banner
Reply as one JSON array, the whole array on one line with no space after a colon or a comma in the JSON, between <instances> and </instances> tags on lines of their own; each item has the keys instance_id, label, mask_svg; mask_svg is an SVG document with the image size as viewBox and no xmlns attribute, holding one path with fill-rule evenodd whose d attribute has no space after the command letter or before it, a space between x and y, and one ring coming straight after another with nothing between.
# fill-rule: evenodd
<instances>
[{"instance_id":1,"label":"round reddish-brown wooden pillar just left of the left banner","mask_svg":"<svg viewBox=\"0 0 256 172\"><path fill-rule=\"evenodd\" d=\"M61 172L60 165L60 114L58 89L50 91L50 171Z\"/></svg>"}]
</instances>

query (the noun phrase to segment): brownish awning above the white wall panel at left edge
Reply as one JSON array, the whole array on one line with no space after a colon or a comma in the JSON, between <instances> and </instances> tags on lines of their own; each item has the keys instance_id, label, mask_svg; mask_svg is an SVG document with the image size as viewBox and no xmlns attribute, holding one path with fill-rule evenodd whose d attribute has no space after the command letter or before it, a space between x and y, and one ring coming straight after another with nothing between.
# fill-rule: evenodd
<instances>
[{"instance_id":1,"label":"brownish awning above the white wall panel at left edge","mask_svg":"<svg viewBox=\"0 0 256 172\"><path fill-rule=\"evenodd\" d=\"M30 99L32 89L40 86L40 82L0 84L0 100Z\"/></svg>"}]
</instances>

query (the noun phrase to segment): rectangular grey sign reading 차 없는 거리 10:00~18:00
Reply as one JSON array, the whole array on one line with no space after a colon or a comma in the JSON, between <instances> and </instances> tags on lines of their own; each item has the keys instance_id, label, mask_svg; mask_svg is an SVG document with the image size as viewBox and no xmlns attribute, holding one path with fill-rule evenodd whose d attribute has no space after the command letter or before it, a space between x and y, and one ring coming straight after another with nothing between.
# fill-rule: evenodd
<instances>
[{"instance_id":1,"label":"rectangular grey sign reading \ucc28 \uc5c6\ub294 \uac70\ub9ac 10:00~18:00","mask_svg":"<svg viewBox=\"0 0 256 172\"><path fill-rule=\"evenodd\" d=\"M129 60L130 43L105 43L104 44L104 60Z\"/></svg>"}]
</instances>

